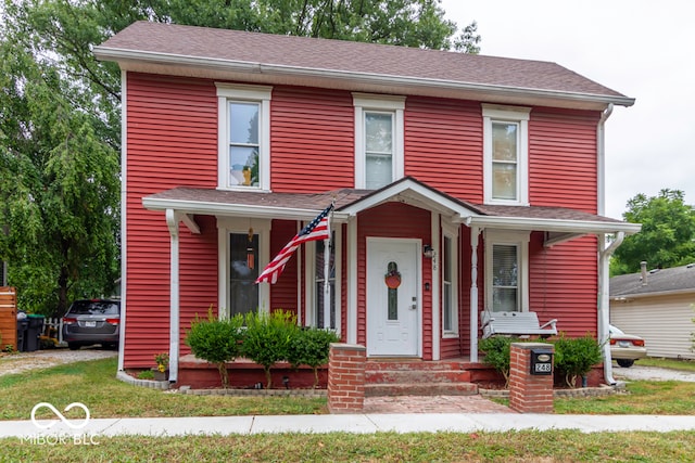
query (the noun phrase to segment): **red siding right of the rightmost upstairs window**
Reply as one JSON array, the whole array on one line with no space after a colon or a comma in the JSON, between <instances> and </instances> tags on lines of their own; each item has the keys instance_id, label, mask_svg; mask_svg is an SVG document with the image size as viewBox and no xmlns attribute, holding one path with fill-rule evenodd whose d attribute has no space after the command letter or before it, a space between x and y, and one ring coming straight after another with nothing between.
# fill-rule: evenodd
<instances>
[{"instance_id":1,"label":"red siding right of the rightmost upstairs window","mask_svg":"<svg viewBox=\"0 0 695 463\"><path fill-rule=\"evenodd\" d=\"M596 127L601 114L534 108L529 121L533 206L597 210Z\"/></svg>"}]
</instances>

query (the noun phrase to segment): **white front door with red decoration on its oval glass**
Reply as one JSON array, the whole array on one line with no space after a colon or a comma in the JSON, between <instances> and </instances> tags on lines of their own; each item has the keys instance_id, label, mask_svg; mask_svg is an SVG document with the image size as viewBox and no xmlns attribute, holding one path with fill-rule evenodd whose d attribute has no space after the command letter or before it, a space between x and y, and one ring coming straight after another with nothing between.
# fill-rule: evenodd
<instances>
[{"instance_id":1,"label":"white front door with red decoration on its oval glass","mask_svg":"<svg viewBox=\"0 0 695 463\"><path fill-rule=\"evenodd\" d=\"M419 241L367 239L367 355L415 357Z\"/></svg>"}]
</instances>

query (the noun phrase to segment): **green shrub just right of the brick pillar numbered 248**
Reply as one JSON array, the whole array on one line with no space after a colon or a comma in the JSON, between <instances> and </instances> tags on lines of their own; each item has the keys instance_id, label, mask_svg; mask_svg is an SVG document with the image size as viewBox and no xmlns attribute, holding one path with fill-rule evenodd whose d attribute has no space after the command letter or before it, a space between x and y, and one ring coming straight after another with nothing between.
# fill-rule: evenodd
<instances>
[{"instance_id":1,"label":"green shrub just right of the brick pillar numbered 248","mask_svg":"<svg viewBox=\"0 0 695 463\"><path fill-rule=\"evenodd\" d=\"M601 345L591 335L569 338L564 333L554 342L555 371L565 377L569 387L576 387L578 376L584 376L593 365L601 363Z\"/></svg>"}]
</instances>

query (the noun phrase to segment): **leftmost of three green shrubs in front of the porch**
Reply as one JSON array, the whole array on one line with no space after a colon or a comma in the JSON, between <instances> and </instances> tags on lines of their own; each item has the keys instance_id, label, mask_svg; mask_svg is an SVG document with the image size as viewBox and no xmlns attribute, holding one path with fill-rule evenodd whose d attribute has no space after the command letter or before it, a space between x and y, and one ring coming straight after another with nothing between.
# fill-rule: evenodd
<instances>
[{"instance_id":1,"label":"leftmost of three green shrubs in front of the porch","mask_svg":"<svg viewBox=\"0 0 695 463\"><path fill-rule=\"evenodd\" d=\"M229 320L218 320L213 317L212 307L207 310L207 318L191 322L191 329L186 332L186 344L199 359L217 365L223 387L229 387L229 376L226 362L233 361L241 353L243 332L243 317L237 314Z\"/></svg>"}]
</instances>

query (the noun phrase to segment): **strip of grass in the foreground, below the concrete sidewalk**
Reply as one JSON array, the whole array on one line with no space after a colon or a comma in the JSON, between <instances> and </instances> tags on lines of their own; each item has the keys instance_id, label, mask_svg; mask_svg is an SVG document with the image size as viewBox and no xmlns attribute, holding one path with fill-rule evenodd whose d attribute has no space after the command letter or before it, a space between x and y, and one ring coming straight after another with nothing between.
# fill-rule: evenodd
<instances>
[{"instance_id":1,"label":"strip of grass in the foreground, below the concrete sidewalk","mask_svg":"<svg viewBox=\"0 0 695 463\"><path fill-rule=\"evenodd\" d=\"M1 461L692 462L695 433L577 430L100 437L98 445L0 439Z\"/></svg>"}]
</instances>

